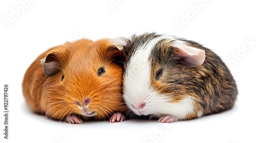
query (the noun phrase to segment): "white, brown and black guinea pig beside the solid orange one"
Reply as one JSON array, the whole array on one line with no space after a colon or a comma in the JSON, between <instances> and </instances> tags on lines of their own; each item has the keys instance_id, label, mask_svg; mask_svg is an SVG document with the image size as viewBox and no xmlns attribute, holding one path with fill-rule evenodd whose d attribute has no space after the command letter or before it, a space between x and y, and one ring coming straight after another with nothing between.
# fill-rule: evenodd
<instances>
[{"instance_id":1,"label":"white, brown and black guinea pig beside the solid orange one","mask_svg":"<svg viewBox=\"0 0 256 143\"><path fill-rule=\"evenodd\" d=\"M131 116L172 123L234 105L238 90L229 69L201 44L157 33L112 41L123 46L123 98Z\"/></svg>"}]
</instances>

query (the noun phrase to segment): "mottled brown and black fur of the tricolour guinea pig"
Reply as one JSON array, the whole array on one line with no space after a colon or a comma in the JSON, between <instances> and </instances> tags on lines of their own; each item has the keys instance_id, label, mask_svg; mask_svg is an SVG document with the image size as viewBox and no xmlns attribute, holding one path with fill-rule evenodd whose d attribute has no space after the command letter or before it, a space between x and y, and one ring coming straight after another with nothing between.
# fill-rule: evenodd
<instances>
[{"instance_id":1,"label":"mottled brown and black fur of the tricolour guinea pig","mask_svg":"<svg viewBox=\"0 0 256 143\"><path fill-rule=\"evenodd\" d=\"M139 36L133 35L127 45L124 46L124 76L125 66L129 63L132 54L140 45L158 38L156 33L145 33ZM176 47L172 46L169 39L160 40L148 57L151 64L151 85L160 94L169 94L178 102L185 95L194 100L194 112L189 113L184 120L219 113L233 107L238 90L229 69L221 58L214 52L199 43L176 38L186 42L188 46L205 51L205 61L198 67L190 67L182 64ZM155 73L163 69L163 75L156 80Z\"/></svg>"}]
</instances>

